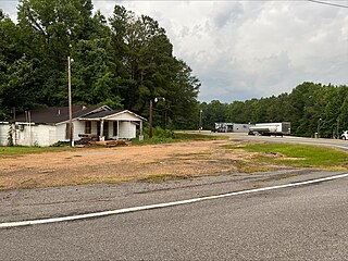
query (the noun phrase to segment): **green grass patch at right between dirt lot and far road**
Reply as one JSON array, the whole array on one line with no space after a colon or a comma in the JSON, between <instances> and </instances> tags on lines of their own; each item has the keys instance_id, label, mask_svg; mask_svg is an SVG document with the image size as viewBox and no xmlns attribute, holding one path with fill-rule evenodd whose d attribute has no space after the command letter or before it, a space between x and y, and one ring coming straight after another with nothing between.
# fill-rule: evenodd
<instances>
[{"instance_id":1,"label":"green grass patch at right between dirt lot and far road","mask_svg":"<svg viewBox=\"0 0 348 261\"><path fill-rule=\"evenodd\" d=\"M297 167L343 170L348 165L348 153L343 150L294 144L252 144L245 150L260 152L258 161Z\"/></svg>"}]
</instances>

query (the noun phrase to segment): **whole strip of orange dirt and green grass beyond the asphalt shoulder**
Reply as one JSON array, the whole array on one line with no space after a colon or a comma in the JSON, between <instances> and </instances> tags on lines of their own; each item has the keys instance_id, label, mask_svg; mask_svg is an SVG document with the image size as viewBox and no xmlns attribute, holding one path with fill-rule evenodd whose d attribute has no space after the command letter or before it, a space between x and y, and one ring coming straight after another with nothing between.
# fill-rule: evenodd
<instances>
[{"instance_id":1,"label":"whole strip of orange dirt and green grass beyond the asphalt shoulder","mask_svg":"<svg viewBox=\"0 0 348 261\"><path fill-rule=\"evenodd\" d=\"M318 156L321 165L316 165ZM84 148L0 158L0 189L127 181L158 183L283 166L346 170L347 159L346 152L328 148L227 140Z\"/></svg>"}]
</instances>

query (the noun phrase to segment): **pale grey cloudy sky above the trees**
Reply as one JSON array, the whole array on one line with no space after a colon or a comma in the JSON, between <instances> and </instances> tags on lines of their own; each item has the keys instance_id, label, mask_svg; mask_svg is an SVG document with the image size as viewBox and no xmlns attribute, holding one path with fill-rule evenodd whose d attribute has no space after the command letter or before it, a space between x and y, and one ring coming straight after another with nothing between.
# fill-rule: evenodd
<instances>
[{"instance_id":1,"label":"pale grey cloudy sky above the trees","mask_svg":"<svg viewBox=\"0 0 348 261\"><path fill-rule=\"evenodd\" d=\"M323 1L348 7L348 0ZM302 82L348 85L348 8L307 0L94 0L107 17L115 3L159 21L174 54L201 80L201 101L277 96ZM14 20L16 4L0 0Z\"/></svg>"}]
</instances>

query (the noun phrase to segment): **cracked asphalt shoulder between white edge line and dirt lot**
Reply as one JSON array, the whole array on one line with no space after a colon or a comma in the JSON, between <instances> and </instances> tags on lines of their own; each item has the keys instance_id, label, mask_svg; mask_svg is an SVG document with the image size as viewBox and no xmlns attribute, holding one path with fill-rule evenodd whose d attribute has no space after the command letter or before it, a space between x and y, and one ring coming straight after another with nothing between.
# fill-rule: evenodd
<instances>
[{"instance_id":1,"label":"cracked asphalt shoulder between white edge line and dirt lot","mask_svg":"<svg viewBox=\"0 0 348 261\"><path fill-rule=\"evenodd\" d=\"M164 203L252 188L284 185L339 173L306 169L219 176L200 176L159 183L125 182L0 191L0 222L49 219Z\"/></svg>"}]
</instances>

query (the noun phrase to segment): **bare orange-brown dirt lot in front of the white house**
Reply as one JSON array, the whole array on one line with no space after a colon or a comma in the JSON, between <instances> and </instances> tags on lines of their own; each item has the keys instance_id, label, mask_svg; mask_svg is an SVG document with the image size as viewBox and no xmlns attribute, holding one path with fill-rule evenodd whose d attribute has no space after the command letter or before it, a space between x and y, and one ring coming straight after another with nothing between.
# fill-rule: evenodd
<instances>
[{"instance_id":1,"label":"bare orange-brown dirt lot in front of the white house","mask_svg":"<svg viewBox=\"0 0 348 261\"><path fill-rule=\"evenodd\" d=\"M236 172L252 153L222 146L238 141L190 141L45 152L0 159L0 189L144 179L185 178Z\"/></svg>"}]
</instances>

